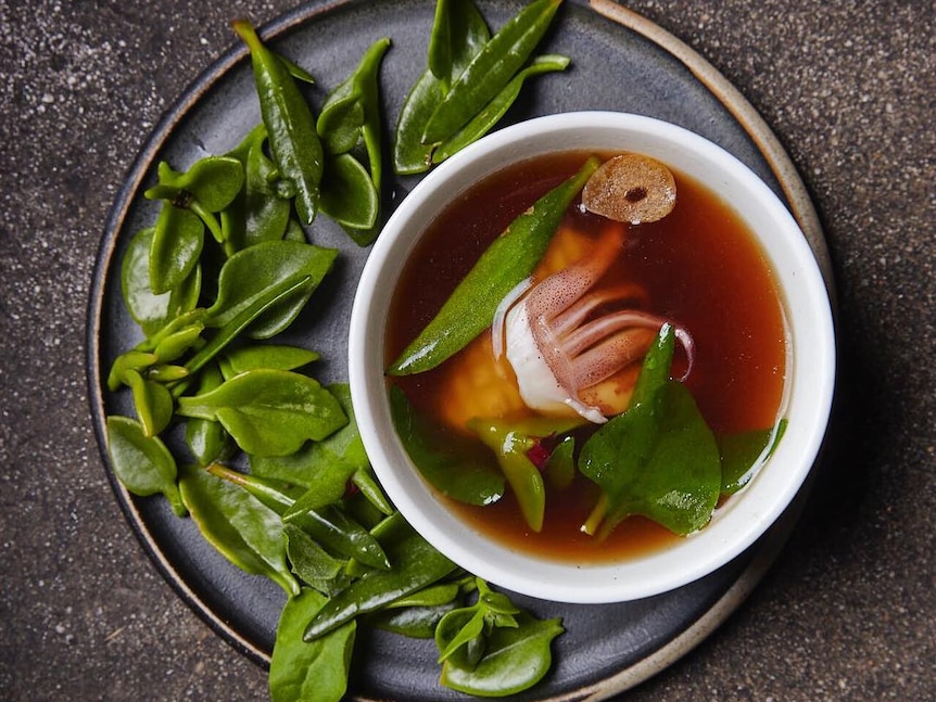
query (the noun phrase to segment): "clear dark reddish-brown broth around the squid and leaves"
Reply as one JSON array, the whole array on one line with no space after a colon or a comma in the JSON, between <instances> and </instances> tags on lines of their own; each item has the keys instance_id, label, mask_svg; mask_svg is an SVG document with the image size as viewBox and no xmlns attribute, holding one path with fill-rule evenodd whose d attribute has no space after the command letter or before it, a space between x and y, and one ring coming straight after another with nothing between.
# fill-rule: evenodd
<instances>
[{"instance_id":1,"label":"clear dark reddish-brown broth around the squid and leaves","mask_svg":"<svg viewBox=\"0 0 936 702\"><path fill-rule=\"evenodd\" d=\"M440 215L393 293L388 358L434 316L491 241L536 197L574 173L585 156L554 154L508 167ZM696 359L686 385L716 434L770 426L777 418L785 373L783 310L773 276L731 207L700 183L680 173L674 176L673 212L659 222L631 228L623 255L607 276L641 284L649 293L648 311L690 330ZM594 229L598 218L573 205L567 220ZM430 371L393 382L417 410L426 411L433 406L439 375ZM633 557L678 538L632 518L596 544L579 526L594 506L597 488L578 476L561 499L552 495L547 489L539 534L527 528L509 494L493 506L453 503L453 509L502 543L562 561Z\"/></svg>"}]
</instances>

